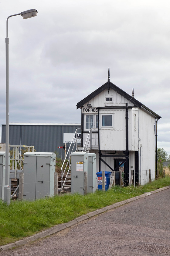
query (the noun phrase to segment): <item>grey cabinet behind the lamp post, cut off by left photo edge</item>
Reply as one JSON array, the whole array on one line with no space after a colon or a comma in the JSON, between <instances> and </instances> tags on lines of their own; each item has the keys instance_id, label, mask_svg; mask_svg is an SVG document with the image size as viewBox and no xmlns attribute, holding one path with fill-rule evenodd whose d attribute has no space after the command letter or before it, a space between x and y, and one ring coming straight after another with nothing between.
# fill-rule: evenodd
<instances>
[{"instance_id":1,"label":"grey cabinet behind the lamp post, cut off by left photo edge","mask_svg":"<svg viewBox=\"0 0 170 256\"><path fill-rule=\"evenodd\" d=\"M10 165L10 153L8 156ZM5 152L0 152L0 198L4 199L4 186L5 186Z\"/></svg>"}]
</instances>

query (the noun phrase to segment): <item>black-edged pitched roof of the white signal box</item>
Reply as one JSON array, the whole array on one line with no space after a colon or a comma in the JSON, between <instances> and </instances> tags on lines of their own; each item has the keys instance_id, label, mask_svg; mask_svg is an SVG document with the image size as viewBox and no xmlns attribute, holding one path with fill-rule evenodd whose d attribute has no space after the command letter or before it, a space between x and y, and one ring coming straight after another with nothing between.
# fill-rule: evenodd
<instances>
[{"instance_id":1,"label":"black-edged pitched roof of the white signal box","mask_svg":"<svg viewBox=\"0 0 170 256\"><path fill-rule=\"evenodd\" d=\"M156 116L158 119L161 118L161 116L159 116L158 114L156 114L155 112L153 112L151 109L149 109L148 107L146 107L145 105L143 105L140 101L136 100L135 98L133 98L131 95L129 95L128 93L126 93L125 91L123 91L121 88L117 87L115 84L113 84L112 82L110 82L110 79L108 79L108 81L103 84L102 86L100 86L97 90L95 90L94 92L92 92L91 94L89 94L86 98L84 98L83 100L79 101L77 103L77 109L81 108L85 103L87 103L88 101L90 101L91 99L93 99L95 96L97 96L100 92L104 91L105 89L110 90L113 89L114 91L116 91L118 94L120 94L121 96L123 96L124 98L126 98L128 101L131 101L134 106L138 107L138 108L144 108L145 110L147 110L148 112L150 112L151 114L153 114L154 116Z\"/></svg>"}]
</instances>

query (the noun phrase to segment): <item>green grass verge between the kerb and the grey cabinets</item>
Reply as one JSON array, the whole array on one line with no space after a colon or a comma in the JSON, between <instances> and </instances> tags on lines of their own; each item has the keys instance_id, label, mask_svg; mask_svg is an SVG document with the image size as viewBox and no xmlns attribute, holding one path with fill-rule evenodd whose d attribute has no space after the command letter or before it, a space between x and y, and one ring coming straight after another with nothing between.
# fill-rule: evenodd
<instances>
[{"instance_id":1,"label":"green grass verge between the kerb and the grey cabinets","mask_svg":"<svg viewBox=\"0 0 170 256\"><path fill-rule=\"evenodd\" d=\"M65 223L87 212L170 185L170 177L139 187L113 187L94 194L64 194L36 201L0 201L0 245L31 236L39 231Z\"/></svg>"}]
</instances>

